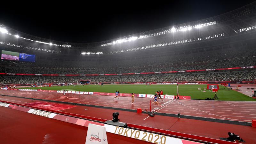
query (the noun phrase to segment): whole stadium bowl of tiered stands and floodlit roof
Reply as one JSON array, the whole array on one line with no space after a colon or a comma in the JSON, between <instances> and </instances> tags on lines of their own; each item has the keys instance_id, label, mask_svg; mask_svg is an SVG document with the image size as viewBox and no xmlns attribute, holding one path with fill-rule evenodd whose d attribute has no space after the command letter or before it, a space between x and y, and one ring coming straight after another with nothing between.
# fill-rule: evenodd
<instances>
[{"instance_id":1,"label":"whole stadium bowl of tiered stands and floodlit roof","mask_svg":"<svg viewBox=\"0 0 256 144\"><path fill-rule=\"evenodd\" d=\"M0 24L0 84L253 83L256 2L218 16L97 43L69 43ZM17 52L21 60L8 52ZM26 55L27 54L27 55ZM22 55L22 57L21 57ZM35 55L35 62L24 60ZM4 60L5 59L5 60Z\"/></svg>"}]
</instances>

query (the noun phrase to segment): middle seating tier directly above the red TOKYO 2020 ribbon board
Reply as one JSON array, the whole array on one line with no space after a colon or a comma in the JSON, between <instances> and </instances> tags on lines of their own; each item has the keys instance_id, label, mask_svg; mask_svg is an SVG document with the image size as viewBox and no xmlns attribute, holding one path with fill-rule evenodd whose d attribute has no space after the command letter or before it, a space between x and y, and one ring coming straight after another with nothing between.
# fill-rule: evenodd
<instances>
[{"instance_id":1,"label":"middle seating tier directly above the red TOKYO 2020 ribbon board","mask_svg":"<svg viewBox=\"0 0 256 144\"><path fill-rule=\"evenodd\" d=\"M140 72L161 72L161 71L180 71L195 69L217 69L231 67L253 66L256 58L236 58L230 60L217 60L197 63L181 63L179 66L164 65L163 67L123 67L123 68L47 68L47 67L31 67L20 64L1 63L0 73L26 73L26 74L121 74L121 73L140 73ZM13 62L12 62L13 63ZM14 62L16 63L16 62Z\"/></svg>"}]
</instances>

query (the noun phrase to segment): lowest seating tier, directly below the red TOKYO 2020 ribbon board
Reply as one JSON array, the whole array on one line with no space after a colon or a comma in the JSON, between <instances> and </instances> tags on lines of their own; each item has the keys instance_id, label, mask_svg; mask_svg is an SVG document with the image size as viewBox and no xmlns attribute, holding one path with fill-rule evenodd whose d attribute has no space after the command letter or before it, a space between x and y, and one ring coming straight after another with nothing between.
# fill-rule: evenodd
<instances>
[{"instance_id":1,"label":"lowest seating tier, directly below the red TOKYO 2020 ribbon board","mask_svg":"<svg viewBox=\"0 0 256 144\"><path fill-rule=\"evenodd\" d=\"M44 84L77 83L79 80L91 80L92 83L108 82L182 82L182 81L253 81L256 71L157 74L132 76L0 76L0 84ZM205 77L207 77L205 79ZM243 79L244 78L244 79Z\"/></svg>"}]
</instances>

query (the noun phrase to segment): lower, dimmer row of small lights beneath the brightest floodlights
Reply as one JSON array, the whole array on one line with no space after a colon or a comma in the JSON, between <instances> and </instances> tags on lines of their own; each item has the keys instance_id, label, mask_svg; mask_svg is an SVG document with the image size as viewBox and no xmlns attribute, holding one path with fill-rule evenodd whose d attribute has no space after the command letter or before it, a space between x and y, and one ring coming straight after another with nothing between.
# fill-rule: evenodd
<instances>
[{"instance_id":1,"label":"lower, dimmer row of small lights beneath the brightest floodlights","mask_svg":"<svg viewBox=\"0 0 256 144\"><path fill-rule=\"evenodd\" d=\"M198 37L196 39L187 39L187 40L181 40L181 41L175 41L175 42L169 42L169 43L163 43L163 44L154 44L154 45L148 45L148 46L143 46L143 47L137 47L137 48L132 48L132 49L126 49L126 50L119 50L119 51L113 51L110 53L122 53L122 52L130 52L130 51L138 51L138 50L143 50L143 49L149 49L149 48L155 48L155 47L163 47L163 46L171 46L171 45L176 45L176 44L184 44L184 43L189 43L192 41L201 41L201 40L207 40L207 39L213 39L217 37L222 37L225 36L225 34L217 34L217 35L212 35L212 36L206 36L206 37Z\"/></svg>"}]
</instances>

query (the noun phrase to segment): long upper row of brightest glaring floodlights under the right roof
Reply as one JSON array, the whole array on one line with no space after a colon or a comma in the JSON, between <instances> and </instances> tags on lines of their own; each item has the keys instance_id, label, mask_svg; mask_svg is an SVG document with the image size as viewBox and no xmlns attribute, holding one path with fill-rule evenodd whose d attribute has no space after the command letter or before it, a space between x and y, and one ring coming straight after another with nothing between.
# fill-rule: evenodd
<instances>
[{"instance_id":1,"label":"long upper row of brightest glaring floodlights under the right roof","mask_svg":"<svg viewBox=\"0 0 256 144\"><path fill-rule=\"evenodd\" d=\"M214 24L216 24L216 21L198 24L198 25L194 25L194 26L188 25L188 26L182 26L182 27L176 27L176 28L172 27L170 29L166 29L166 30L158 32L158 33L142 35L142 36L132 36L132 37L128 37L128 38L118 39L118 40L113 41L112 43L101 44L101 46L121 44L121 43L125 43L125 42L135 41L137 39L143 39L143 38L148 38L148 37L153 37L153 36L160 36L160 35L164 35L164 34L168 34L168 33L175 33L175 32L179 32L179 31L185 32L185 31L190 31L191 29L198 29L198 28L202 28L202 27L211 26Z\"/></svg>"}]
</instances>

